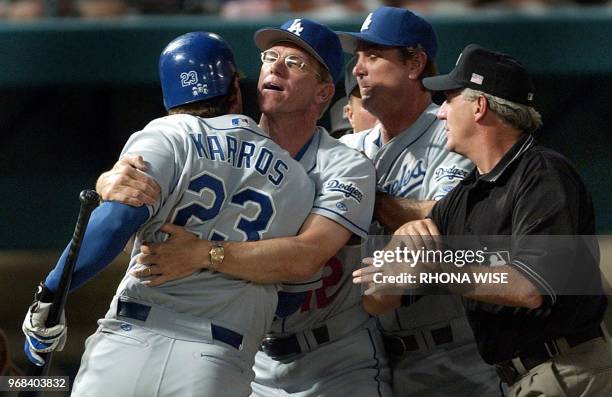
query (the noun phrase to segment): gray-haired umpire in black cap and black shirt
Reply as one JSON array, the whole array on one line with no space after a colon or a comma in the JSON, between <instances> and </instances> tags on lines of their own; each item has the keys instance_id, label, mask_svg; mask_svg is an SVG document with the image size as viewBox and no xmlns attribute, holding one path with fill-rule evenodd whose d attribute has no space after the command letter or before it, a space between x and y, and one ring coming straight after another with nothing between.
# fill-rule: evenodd
<instances>
[{"instance_id":1,"label":"gray-haired umpire in black cap and black shirt","mask_svg":"<svg viewBox=\"0 0 612 397\"><path fill-rule=\"evenodd\" d=\"M398 234L423 226L430 234L518 240L595 234L580 176L531 135L541 119L532 107L531 78L517 60L470 44L453 71L423 84L444 91L438 117L446 120L447 147L476 168L436 204L431 219L407 224ZM546 247L521 248L513 247L510 263L500 270L474 270L506 271L509 285L478 285L480 294L463 293L484 360L495 364L509 396L610 396L612 342L601 324L606 299L596 261L580 248L555 261ZM582 288L582 295L567 293L569 284Z\"/></svg>"}]
</instances>

